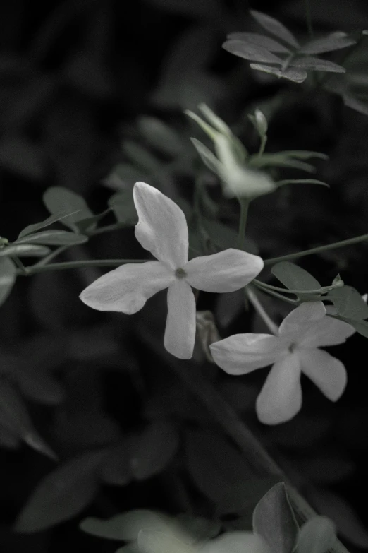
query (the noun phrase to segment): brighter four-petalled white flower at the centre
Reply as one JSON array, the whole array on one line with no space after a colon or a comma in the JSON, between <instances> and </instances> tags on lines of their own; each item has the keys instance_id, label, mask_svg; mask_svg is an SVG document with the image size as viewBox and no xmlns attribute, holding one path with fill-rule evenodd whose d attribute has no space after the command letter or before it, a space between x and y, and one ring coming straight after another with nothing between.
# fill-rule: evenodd
<instances>
[{"instance_id":1,"label":"brighter four-petalled white flower at the centre","mask_svg":"<svg viewBox=\"0 0 368 553\"><path fill-rule=\"evenodd\" d=\"M139 222L138 242L158 261L126 263L98 278L80 295L99 311L133 314L149 297L168 288L164 345L180 359L190 359L195 344L195 296L204 292L234 292L262 270L259 256L238 249L188 261L188 226L183 211L170 198L145 182L133 189Z\"/></svg>"}]
</instances>

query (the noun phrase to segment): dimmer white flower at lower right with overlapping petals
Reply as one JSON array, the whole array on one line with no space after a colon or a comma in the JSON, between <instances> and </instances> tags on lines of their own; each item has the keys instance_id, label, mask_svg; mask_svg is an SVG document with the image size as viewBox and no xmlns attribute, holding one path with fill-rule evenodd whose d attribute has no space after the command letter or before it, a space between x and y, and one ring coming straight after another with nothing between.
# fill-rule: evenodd
<instances>
[{"instance_id":1,"label":"dimmer white flower at lower right with overlapping petals","mask_svg":"<svg viewBox=\"0 0 368 553\"><path fill-rule=\"evenodd\" d=\"M256 409L264 424L279 424L293 418L302 406L302 373L329 400L340 398L347 380L345 367L319 347L341 344L353 333L350 324L327 316L322 302L308 302L286 316L277 336L236 334L209 348L216 364L229 374L246 374L272 364Z\"/></svg>"}]
</instances>

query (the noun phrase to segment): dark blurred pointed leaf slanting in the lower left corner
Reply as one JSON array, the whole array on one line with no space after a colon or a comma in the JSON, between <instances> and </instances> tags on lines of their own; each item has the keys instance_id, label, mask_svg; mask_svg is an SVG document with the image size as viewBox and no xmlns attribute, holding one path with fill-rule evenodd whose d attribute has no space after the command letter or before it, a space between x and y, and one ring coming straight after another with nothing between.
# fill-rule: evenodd
<instances>
[{"instance_id":1,"label":"dark blurred pointed leaf slanting in the lower left corner","mask_svg":"<svg viewBox=\"0 0 368 553\"><path fill-rule=\"evenodd\" d=\"M99 467L105 454L90 451L44 477L21 511L16 530L38 532L80 513L97 492Z\"/></svg>"}]
</instances>

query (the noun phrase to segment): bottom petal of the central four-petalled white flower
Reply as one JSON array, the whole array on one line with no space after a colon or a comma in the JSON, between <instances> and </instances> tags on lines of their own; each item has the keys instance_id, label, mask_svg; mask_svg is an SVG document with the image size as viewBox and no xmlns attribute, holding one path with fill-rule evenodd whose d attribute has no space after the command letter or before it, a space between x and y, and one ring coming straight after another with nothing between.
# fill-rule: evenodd
<instances>
[{"instance_id":1,"label":"bottom petal of the central four-petalled white flower","mask_svg":"<svg viewBox=\"0 0 368 553\"><path fill-rule=\"evenodd\" d=\"M164 346L179 359L190 359L195 345L195 297L185 280L175 280L167 292Z\"/></svg>"}]
</instances>

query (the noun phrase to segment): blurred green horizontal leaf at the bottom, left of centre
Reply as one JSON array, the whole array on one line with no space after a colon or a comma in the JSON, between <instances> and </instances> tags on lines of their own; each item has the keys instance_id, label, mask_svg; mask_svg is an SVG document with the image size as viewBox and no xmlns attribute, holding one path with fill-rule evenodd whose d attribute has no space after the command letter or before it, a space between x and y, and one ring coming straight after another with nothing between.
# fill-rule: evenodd
<instances>
[{"instance_id":1,"label":"blurred green horizontal leaf at the bottom, left of centre","mask_svg":"<svg viewBox=\"0 0 368 553\"><path fill-rule=\"evenodd\" d=\"M164 532L170 528L170 517L148 509L135 509L126 513L102 520L100 518L85 518L80 523L83 532L94 536L104 537L106 540L137 540L142 528L151 528Z\"/></svg>"}]
</instances>

